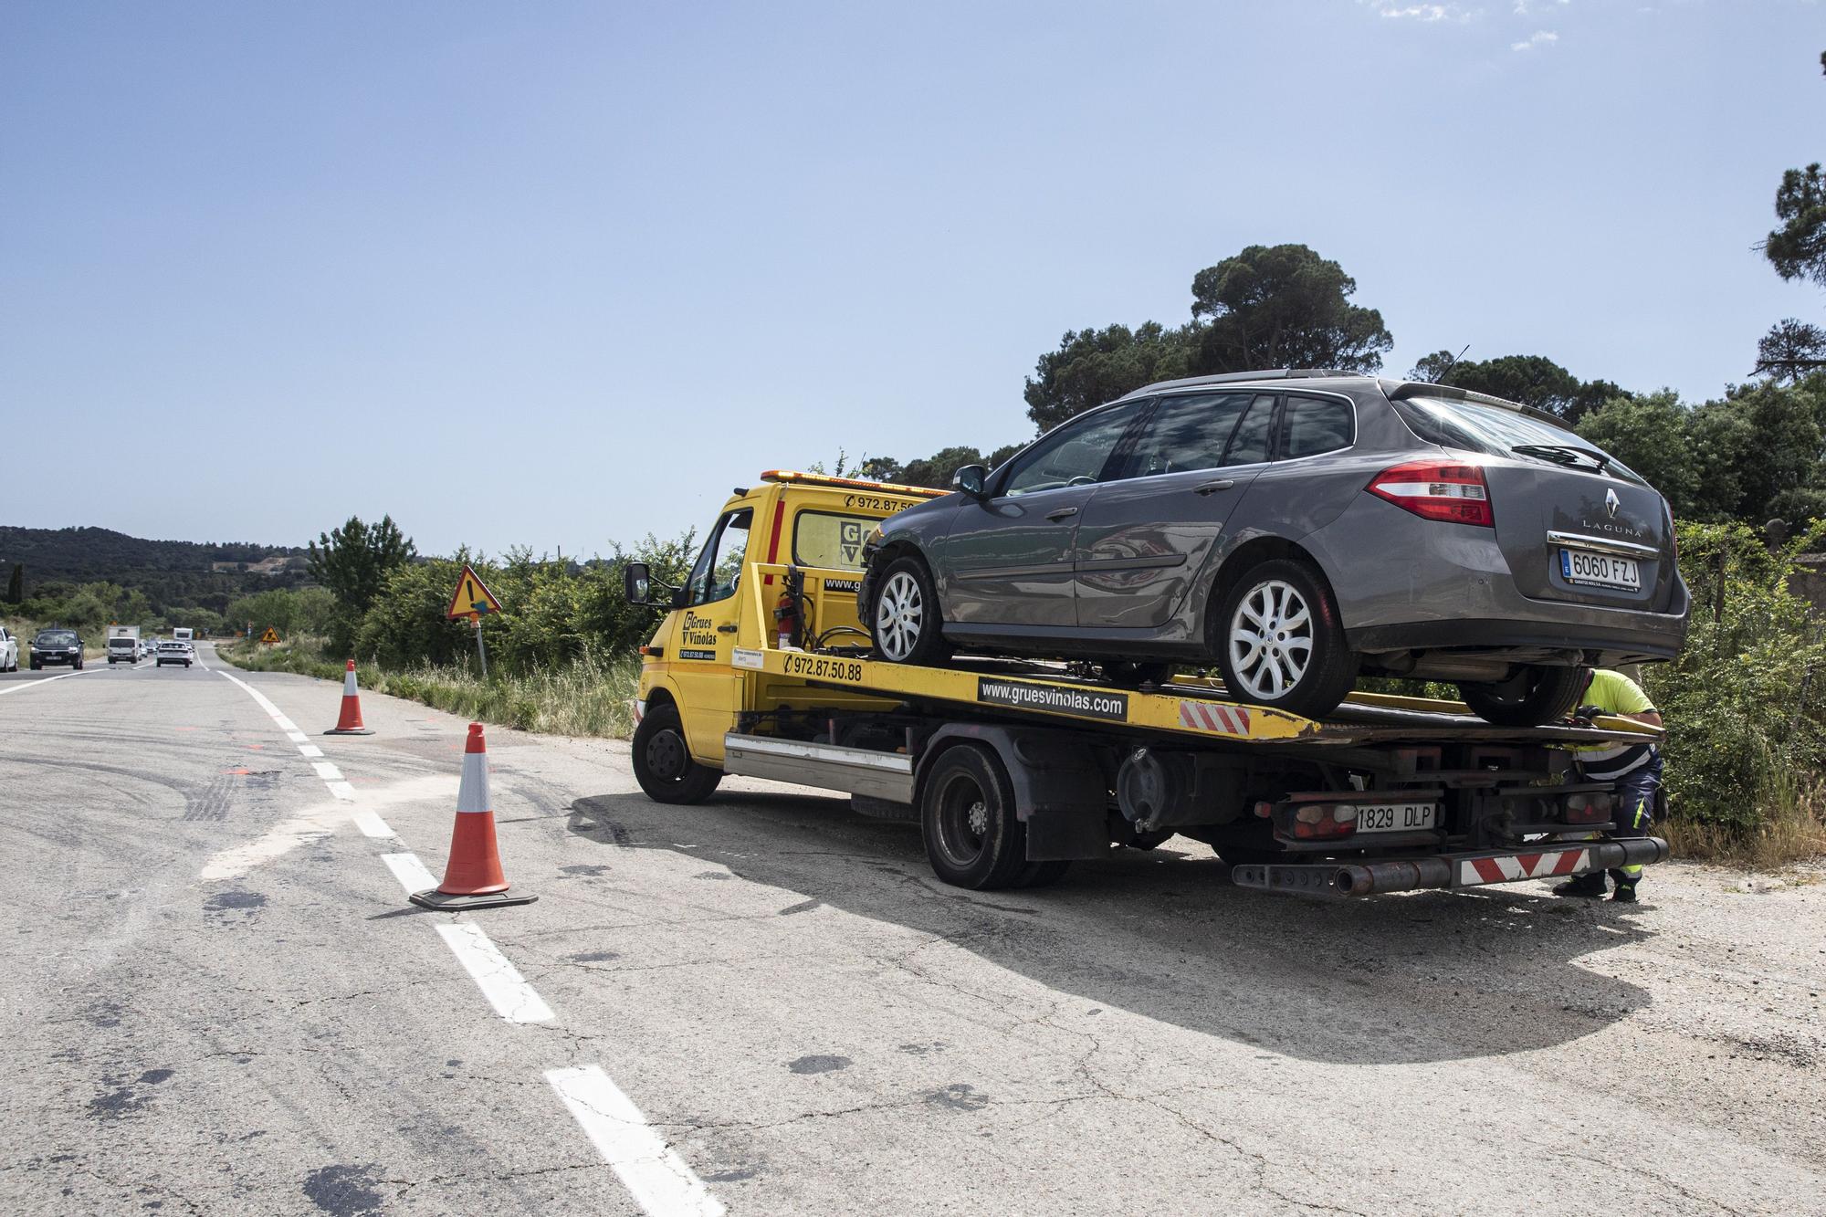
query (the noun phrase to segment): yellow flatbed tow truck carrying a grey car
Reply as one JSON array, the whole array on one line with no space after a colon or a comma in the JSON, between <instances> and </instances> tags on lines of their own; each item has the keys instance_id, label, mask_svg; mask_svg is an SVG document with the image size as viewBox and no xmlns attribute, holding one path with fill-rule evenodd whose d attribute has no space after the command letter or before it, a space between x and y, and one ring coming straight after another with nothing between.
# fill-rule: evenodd
<instances>
[{"instance_id":1,"label":"yellow flatbed tow truck carrying a grey car","mask_svg":"<svg viewBox=\"0 0 1826 1217\"><path fill-rule=\"evenodd\" d=\"M685 587L630 563L665 608L635 700L634 771L659 802L725 773L847 793L917 820L966 888L1043 886L1079 859L1211 844L1234 883L1371 895L1578 875L1667 857L1614 837L1614 791L1572 749L1656 736L1627 718L1499 727L1459 702L1357 693L1313 720L1180 674L1119 687L1088 665L871 656L864 543L937 490L769 471L723 504Z\"/></svg>"}]
</instances>

